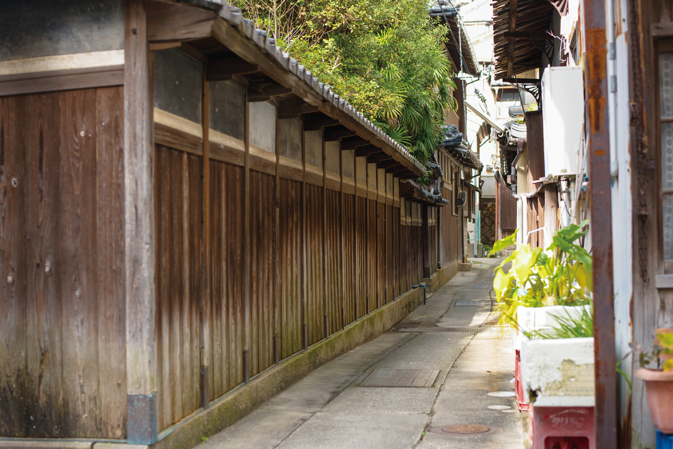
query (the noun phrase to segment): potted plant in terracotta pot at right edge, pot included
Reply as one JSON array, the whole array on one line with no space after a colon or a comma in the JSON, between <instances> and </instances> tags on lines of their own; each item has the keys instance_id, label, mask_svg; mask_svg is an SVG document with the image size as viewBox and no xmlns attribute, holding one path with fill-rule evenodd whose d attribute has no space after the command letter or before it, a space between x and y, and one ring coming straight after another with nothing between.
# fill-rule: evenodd
<instances>
[{"instance_id":1,"label":"potted plant in terracotta pot at right edge, pot included","mask_svg":"<svg viewBox=\"0 0 673 449\"><path fill-rule=\"evenodd\" d=\"M641 366L657 362L656 369L639 368L635 375L645 381L652 422L662 433L673 434L673 329L657 329L652 352L641 352L640 360Z\"/></svg>"}]
</instances>

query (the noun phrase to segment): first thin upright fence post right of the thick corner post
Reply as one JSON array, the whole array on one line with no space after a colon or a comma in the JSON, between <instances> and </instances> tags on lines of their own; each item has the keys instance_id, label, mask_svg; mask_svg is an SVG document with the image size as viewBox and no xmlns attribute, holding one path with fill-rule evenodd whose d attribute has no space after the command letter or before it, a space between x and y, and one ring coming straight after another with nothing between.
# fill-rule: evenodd
<instances>
[{"instance_id":1,"label":"first thin upright fence post right of the thick corner post","mask_svg":"<svg viewBox=\"0 0 673 449\"><path fill-rule=\"evenodd\" d=\"M203 126L203 165L201 179L203 179L203 208L201 209L201 408L210 406L209 366L211 364L211 229L210 229L210 153L209 153L209 124L210 124L210 85L206 79L208 64L203 65L203 91L201 99L201 122Z\"/></svg>"}]
</instances>

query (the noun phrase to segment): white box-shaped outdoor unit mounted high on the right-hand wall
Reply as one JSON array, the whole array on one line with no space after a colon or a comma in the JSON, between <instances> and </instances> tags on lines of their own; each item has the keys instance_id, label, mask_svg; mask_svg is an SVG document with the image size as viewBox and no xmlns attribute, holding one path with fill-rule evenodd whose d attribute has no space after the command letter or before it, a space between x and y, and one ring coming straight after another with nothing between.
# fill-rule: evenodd
<instances>
[{"instance_id":1,"label":"white box-shaped outdoor unit mounted high on the right-hand wall","mask_svg":"<svg viewBox=\"0 0 673 449\"><path fill-rule=\"evenodd\" d=\"M547 67L542 74L544 174L577 174L584 117L581 67Z\"/></svg>"}]
</instances>

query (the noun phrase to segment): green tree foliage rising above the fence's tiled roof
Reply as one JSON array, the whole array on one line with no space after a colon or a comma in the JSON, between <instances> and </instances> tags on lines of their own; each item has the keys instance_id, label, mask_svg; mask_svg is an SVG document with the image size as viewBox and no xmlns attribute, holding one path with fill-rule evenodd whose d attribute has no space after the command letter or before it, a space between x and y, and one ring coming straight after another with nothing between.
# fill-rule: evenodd
<instances>
[{"instance_id":1,"label":"green tree foliage rising above the fence's tiled roof","mask_svg":"<svg viewBox=\"0 0 673 449\"><path fill-rule=\"evenodd\" d=\"M406 145L435 150L455 85L425 0L236 0L321 81Z\"/></svg>"}]
</instances>

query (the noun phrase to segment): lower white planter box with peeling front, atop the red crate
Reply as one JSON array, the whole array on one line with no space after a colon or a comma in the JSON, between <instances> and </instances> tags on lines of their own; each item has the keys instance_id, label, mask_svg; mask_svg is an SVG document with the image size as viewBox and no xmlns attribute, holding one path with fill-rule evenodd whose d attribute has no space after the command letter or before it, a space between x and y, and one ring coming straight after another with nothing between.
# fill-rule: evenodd
<instances>
[{"instance_id":1,"label":"lower white planter box with peeling front, atop the red crate","mask_svg":"<svg viewBox=\"0 0 673 449\"><path fill-rule=\"evenodd\" d=\"M594 338L524 338L521 374L536 407L593 407Z\"/></svg>"}]
</instances>

